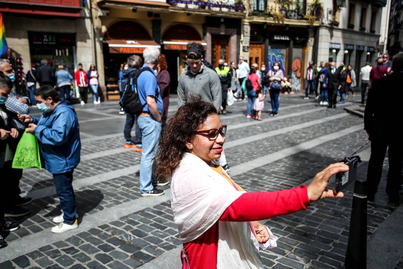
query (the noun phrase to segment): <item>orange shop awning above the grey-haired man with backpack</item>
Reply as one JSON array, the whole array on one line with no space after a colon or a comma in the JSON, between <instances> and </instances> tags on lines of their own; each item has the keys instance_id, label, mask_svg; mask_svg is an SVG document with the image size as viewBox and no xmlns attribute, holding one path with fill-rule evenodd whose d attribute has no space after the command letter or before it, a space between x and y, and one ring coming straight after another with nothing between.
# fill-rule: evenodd
<instances>
[{"instance_id":1,"label":"orange shop awning above the grey-haired man with backpack","mask_svg":"<svg viewBox=\"0 0 403 269\"><path fill-rule=\"evenodd\" d=\"M105 40L109 46L110 53L131 53L131 54L141 54L145 48L154 47L161 48L153 40Z\"/></svg>"}]
</instances>

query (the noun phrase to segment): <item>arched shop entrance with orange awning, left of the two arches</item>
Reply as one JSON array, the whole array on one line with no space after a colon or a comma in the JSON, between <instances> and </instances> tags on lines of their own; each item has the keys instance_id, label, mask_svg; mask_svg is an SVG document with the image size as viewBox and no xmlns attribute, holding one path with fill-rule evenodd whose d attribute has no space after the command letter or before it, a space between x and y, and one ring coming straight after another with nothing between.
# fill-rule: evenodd
<instances>
[{"instance_id":1,"label":"arched shop entrance with orange awning, left of the two arches","mask_svg":"<svg viewBox=\"0 0 403 269\"><path fill-rule=\"evenodd\" d=\"M142 57L144 48L160 46L152 40L150 33L139 23L121 20L108 27L104 34L104 68L106 93L109 100L119 99L118 79L120 64L131 54Z\"/></svg>"}]
</instances>

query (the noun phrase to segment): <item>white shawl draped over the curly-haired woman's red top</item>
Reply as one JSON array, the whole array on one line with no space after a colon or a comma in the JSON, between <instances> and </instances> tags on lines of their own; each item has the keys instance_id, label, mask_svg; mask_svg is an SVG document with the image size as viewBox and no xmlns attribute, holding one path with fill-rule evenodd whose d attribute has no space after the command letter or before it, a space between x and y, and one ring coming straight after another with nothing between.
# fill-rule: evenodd
<instances>
[{"instance_id":1,"label":"white shawl draped over the curly-haired woman's red top","mask_svg":"<svg viewBox=\"0 0 403 269\"><path fill-rule=\"evenodd\" d=\"M204 234L243 193L202 159L184 153L171 182L171 206L181 241ZM217 268L263 268L249 222L219 221L218 225Z\"/></svg>"}]
</instances>

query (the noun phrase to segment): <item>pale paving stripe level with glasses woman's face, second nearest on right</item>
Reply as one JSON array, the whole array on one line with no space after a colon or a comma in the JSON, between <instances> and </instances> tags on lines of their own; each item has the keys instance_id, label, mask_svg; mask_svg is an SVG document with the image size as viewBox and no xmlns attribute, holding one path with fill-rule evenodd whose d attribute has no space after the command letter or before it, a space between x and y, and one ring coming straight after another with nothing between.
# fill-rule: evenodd
<instances>
[{"instance_id":1,"label":"pale paving stripe level with glasses woman's face, second nearest on right","mask_svg":"<svg viewBox=\"0 0 403 269\"><path fill-rule=\"evenodd\" d=\"M271 136L276 136L276 135L279 135L279 134L282 134L282 133L288 133L288 132L291 132L291 131L296 131L298 129L314 126L314 125L321 124L321 123L326 123L328 121L332 121L332 120L335 120L335 119L340 119L340 118L347 117L347 116L348 115L346 115L346 113L339 113L339 114L332 115L332 116L329 116L329 117L326 117L326 118L321 118L321 119L317 119L317 120L314 120L314 121L308 121L308 122L305 122L305 123L301 123L301 124L292 125L292 126L289 126L289 127L277 129L277 130L274 130L274 131L268 131L266 133L260 133L260 134L254 135L254 136L248 136L248 137L245 137L245 138L241 138L241 139L226 142L224 144L224 148L231 148L231 147L239 146L239 145L246 144L246 143L249 143L249 142L252 142L252 141L261 140L261 139L268 138L268 137L271 137Z\"/></svg>"}]
</instances>

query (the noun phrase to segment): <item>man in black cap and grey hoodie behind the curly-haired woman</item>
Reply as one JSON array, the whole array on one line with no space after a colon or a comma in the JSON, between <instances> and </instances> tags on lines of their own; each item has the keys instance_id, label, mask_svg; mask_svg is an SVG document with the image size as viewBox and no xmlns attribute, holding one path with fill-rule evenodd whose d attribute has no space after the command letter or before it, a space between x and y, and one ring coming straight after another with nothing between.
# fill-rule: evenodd
<instances>
[{"instance_id":1,"label":"man in black cap and grey hoodie behind the curly-haired woman","mask_svg":"<svg viewBox=\"0 0 403 269\"><path fill-rule=\"evenodd\" d=\"M220 111L222 92L217 73L202 63L203 55L199 48L189 48L186 60L189 66L178 82L178 107L186 103L187 94L195 92Z\"/></svg>"}]
</instances>

